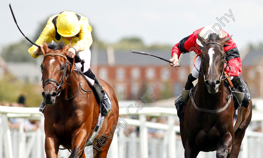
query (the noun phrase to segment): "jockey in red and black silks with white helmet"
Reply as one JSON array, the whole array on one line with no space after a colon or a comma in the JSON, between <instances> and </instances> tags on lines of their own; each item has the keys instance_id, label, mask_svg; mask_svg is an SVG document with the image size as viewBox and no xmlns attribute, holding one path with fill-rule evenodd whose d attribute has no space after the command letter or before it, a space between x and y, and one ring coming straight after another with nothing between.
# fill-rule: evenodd
<instances>
[{"instance_id":1,"label":"jockey in red and black silks with white helmet","mask_svg":"<svg viewBox=\"0 0 263 158\"><path fill-rule=\"evenodd\" d=\"M217 33L220 38L230 37L230 35L224 30L221 29L220 31L218 31L214 29L213 25L202 27L194 31L188 37L183 38L180 42L178 42L176 45L173 46L172 59L170 59L170 61L172 61L173 63L170 63L170 65L173 67L177 67L179 65L178 58L180 57L182 53L188 53L191 51L194 51L196 54L201 53L201 47L203 47L203 45L197 39L197 35L199 34L204 39L208 39L208 36L210 33ZM229 59L229 65L231 67L231 71L229 67L227 67L226 72L229 73L230 75L229 78L231 79L235 88L238 91L245 93L245 97L242 101L242 105L244 107L247 107L249 105L251 96L250 96L250 92L248 90L247 84L239 76L242 71L240 55L236 47L236 44L232 40L232 38L229 40L227 45L228 46L224 47L224 51L226 53L226 56ZM198 69L200 68L201 57L196 58L195 66ZM175 100L175 106L178 111L181 111L183 109L183 106L186 104L183 102L183 100L188 99L190 89L193 86L192 82L198 78L198 75L199 75L199 72L196 70L195 67L193 67L192 72L188 75L187 80L185 82L185 86L183 88L183 93L182 93L183 95L180 94ZM182 97L183 97L183 100L182 100Z\"/></svg>"}]
</instances>

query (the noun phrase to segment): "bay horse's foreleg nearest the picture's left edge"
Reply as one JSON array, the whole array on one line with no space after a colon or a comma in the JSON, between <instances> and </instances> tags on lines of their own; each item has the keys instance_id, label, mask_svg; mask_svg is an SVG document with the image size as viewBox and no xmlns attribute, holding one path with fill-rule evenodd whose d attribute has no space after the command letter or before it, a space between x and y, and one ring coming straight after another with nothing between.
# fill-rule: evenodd
<instances>
[{"instance_id":1,"label":"bay horse's foreleg nearest the picture's left edge","mask_svg":"<svg viewBox=\"0 0 263 158\"><path fill-rule=\"evenodd\" d=\"M58 157L59 141L56 138L45 137L45 152L47 158Z\"/></svg>"}]
</instances>

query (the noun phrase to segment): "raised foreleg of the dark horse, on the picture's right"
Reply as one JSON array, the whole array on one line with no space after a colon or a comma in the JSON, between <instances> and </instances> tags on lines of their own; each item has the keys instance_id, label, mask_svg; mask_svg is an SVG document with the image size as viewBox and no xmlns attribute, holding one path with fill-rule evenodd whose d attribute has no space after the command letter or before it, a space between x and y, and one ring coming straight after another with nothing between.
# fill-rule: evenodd
<instances>
[{"instance_id":1,"label":"raised foreleg of the dark horse, on the picture's right","mask_svg":"<svg viewBox=\"0 0 263 158\"><path fill-rule=\"evenodd\" d=\"M232 135L228 132L224 135L221 145L216 150L216 158L226 158L232 149Z\"/></svg>"}]
</instances>

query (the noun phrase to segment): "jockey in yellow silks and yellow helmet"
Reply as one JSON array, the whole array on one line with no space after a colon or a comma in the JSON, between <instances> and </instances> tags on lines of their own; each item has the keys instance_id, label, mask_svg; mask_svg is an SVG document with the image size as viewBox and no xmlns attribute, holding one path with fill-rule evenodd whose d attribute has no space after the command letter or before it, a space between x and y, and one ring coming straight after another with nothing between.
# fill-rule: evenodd
<instances>
[{"instance_id":1,"label":"jockey in yellow silks and yellow helmet","mask_svg":"<svg viewBox=\"0 0 263 158\"><path fill-rule=\"evenodd\" d=\"M88 18L75 12L64 11L49 18L46 27L35 43L40 47L43 47L44 42L63 42L64 45L70 43L71 47L66 52L66 55L70 58L74 58L76 52L78 52L80 59L85 60L82 73L94 80L91 89L94 91L95 97L100 107L103 109L102 116L104 116L111 110L111 105L105 96L100 82L90 70L91 31L92 28ZM28 49L28 52L34 58L43 54L41 49L34 45ZM79 70L82 67L81 63L75 63L75 65ZM43 101L39 107L39 111L44 112L44 106L45 104Z\"/></svg>"}]
</instances>

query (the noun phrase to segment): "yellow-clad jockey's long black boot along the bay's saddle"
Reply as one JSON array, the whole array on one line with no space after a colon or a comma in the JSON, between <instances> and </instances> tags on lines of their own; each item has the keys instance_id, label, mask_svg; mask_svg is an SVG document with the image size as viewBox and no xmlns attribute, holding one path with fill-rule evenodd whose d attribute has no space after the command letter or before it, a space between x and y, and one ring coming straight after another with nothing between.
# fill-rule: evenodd
<instances>
[{"instance_id":1,"label":"yellow-clad jockey's long black boot along the bay's saddle","mask_svg":"<svg viewBox=\"0 0 263 158\"><path fill-rule=\"evenodd\" d=\"M106 94L105 94L100 82L95 77L95 75L91 72L90 69L87 72L85 72L84 75L86 75L87 77L89 77L95 81L94 85L91 87L91 89L93 90L93 92L95 94L95 98L99 103L101 115L102 116L108 115L109 112L111 111L111 104L109 103L108 98L106 97ZM102 111L101 111L101 109L102 109Z\"/></svg>"}]
</instances>

